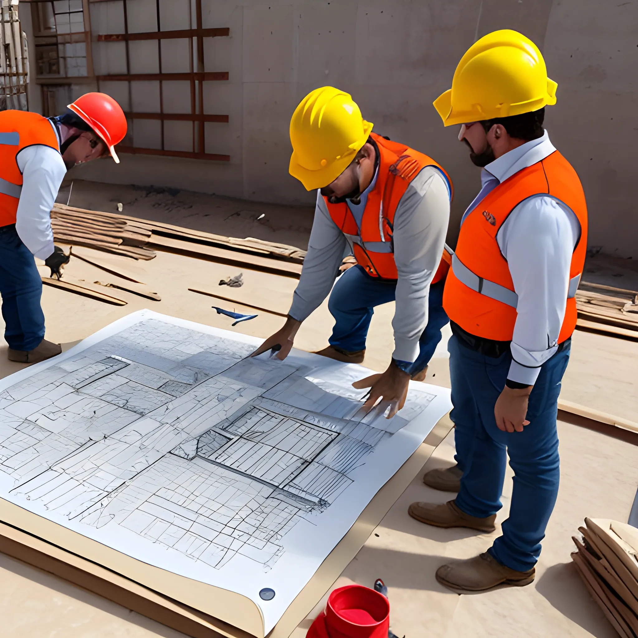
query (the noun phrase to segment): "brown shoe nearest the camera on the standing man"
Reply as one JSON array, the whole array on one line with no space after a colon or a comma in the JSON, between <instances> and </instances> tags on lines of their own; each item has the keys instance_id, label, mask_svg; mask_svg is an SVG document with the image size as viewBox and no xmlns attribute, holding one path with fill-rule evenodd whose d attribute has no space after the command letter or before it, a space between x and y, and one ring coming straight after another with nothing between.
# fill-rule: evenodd
<instances>
[{"instance_id":1,"label":"brown shoe nearest the camera on the standing man","mask_svg":"<svg viewBox=\"0 0 638 638\"><path fill-rule=\"evenodd\" d=\"M499 586L523 587L534 580L536 568L517 572L501 565L492 554L484 553L474 558L441 565L436 570L436 580L457 593L489 591Z\"/></svg>"}]
</instances>

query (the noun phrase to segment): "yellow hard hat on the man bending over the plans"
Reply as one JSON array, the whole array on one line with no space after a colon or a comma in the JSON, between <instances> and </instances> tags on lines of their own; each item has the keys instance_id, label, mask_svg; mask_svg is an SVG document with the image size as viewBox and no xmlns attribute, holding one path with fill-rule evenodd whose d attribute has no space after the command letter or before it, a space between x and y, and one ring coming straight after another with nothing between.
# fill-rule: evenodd
<instances>
[{"instance_id":1,"label":"yellow hard hat on the man bending over the plans","mask_svg":"<svg viewBox=\"0 0 638 638\"><path fill-rule=\"evenodd\" d=\"M352 96L332 86L311 91L290 120L290 174L312 191L333 182L372 130Z\"/></svg>"}]
</instances>

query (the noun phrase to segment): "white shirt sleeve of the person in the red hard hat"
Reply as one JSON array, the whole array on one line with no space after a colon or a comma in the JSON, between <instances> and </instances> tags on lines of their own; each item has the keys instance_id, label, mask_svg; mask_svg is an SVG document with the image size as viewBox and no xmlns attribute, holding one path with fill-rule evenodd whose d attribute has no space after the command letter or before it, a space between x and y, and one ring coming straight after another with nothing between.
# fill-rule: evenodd
<instances>
[{"instance_id":1,"label":"white shirt sleeve of the person in the red hard hat","mask_svg":"<svg viewBox=\"0 0 638 638\"><path fill-rule=\"evenodd\" d=\"M60 144L59 131L51 122ZM53 253L51 209L66 175L66 166L56 149L35 144L22 149L16 161L22 173L22 193L15 216L15 230L22 243L40 259Z\"/></svg>"}]
</instances>

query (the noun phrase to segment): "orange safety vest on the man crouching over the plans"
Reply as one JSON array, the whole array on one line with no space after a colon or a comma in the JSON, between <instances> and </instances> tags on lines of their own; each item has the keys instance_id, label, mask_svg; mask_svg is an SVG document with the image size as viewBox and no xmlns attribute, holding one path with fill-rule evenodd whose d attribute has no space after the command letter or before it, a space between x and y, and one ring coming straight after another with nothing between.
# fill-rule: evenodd
<instances>
[{"instance_id":1,"label":"orange safety vest on the man crouching over the plans","mask_svg":"<svg viewBox=\"0 0 638 638\"><path fill-rule=\"evenodd\" d=\"M394 262L394 214L410 182L422 168L433 166L440 170L447 181L450 200L452 199L452 181L441 166L427 155L397 142L390 142L376 133L370 133L379 149L379 167L375 188L367 195L366 207L357 226L352 212L345 202L330 204L324 197L332 221L336 223L352 246L357 263L366 269L367 274L382 279L397 279L397 267ZM399 177L400 179L396 179ZM452 251L445 247L439 267L432 283L441 281L450 269Z\"/></svg>"}]
</instances>

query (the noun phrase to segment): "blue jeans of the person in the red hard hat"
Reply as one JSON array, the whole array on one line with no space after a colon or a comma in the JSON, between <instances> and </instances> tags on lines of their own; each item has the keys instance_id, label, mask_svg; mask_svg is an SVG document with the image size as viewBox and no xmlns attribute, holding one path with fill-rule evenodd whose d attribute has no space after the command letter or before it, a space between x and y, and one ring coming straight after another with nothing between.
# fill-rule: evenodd
<instances>
[{"instance_id":1,"label":"blue jeans of the person in the red hard hat","mask_svg":"<svg viewBox=\"0 0 638 638\"><path fill-rule=\"evenodd\" d=\"M44 338L42 279L15 225L0 228L0 295L6 343L13 350L33 350Z\"/></svg>"}]
</instances>

